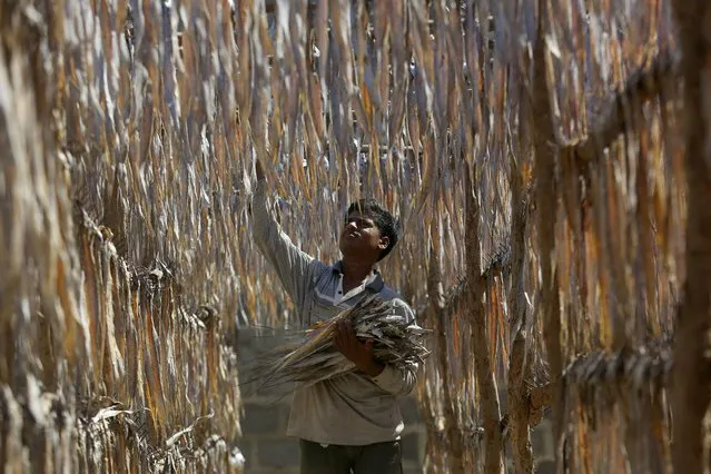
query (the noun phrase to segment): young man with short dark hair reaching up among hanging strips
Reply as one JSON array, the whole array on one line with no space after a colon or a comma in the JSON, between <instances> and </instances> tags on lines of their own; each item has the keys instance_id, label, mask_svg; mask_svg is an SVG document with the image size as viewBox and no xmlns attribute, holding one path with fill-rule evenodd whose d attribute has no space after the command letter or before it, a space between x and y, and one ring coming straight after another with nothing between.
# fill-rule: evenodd
<instances>
[{"instance_id":1,"label":"young man with short dark hair reaching up among hanging strips","mask_svg":"<svg viewBox=\"0 0 711 474\"><path fill-rule=\"evenodd\" d=\"M298 249L267 209L266 179L256 164L253 231L257 248L275 268L292 297L298 322L307 327L330 319L366 295L395 300L409 322L415 317L399 295L385 286L375 264L397 243L398 225L373 199L349 206L340 231L343 258L326 265ZM354 373L294 393L287 435L299 438L303 474L399 474L403 419L397 396L412 392L417 365L383 365L371 342L362 343L343 323L334 346L352 361Z\"/></svg>"}]
</instances>

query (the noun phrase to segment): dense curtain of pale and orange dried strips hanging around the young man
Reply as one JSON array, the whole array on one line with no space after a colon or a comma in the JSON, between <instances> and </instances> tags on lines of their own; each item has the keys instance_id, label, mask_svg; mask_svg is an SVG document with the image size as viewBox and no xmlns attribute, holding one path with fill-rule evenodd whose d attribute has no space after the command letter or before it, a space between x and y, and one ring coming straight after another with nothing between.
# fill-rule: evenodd
<instances>
[{"instance_id":1,"label":"dense curtain of pale and orange dried strips hanging around the young man","mask_svg":"<svg viewBox=\"0 0 711 474\"><path fill-rule=\"evenodd\" d=\"M121 433L150 418L166 447L172 428L213 423L229 445L238 392L215 339L292 324L249 237L258 158L284 230L318 258L337 258L349 200L399 216L383 271L436 328L417 389L433 472L507 457L530 472L529 427L551 404L569 472L664 471L685 225L666 2L61 0L0 18L7 426L21 425L4 407L24 403L41 432L28 416L52 398L26 394L58 394L77 419L100 394L120 406L83 413ZM168 313L128 304L137 275L170 282L149 285L170 288ZM130 309L113 329L107 302ZM198 345L156 337L178 319ZM186 362L204 345L219 364ZM167 361L160 377L186 382L179 413L154 373L118 382ZM38 443L73 442L65 429Z\"/></svg>"}]
</instances>

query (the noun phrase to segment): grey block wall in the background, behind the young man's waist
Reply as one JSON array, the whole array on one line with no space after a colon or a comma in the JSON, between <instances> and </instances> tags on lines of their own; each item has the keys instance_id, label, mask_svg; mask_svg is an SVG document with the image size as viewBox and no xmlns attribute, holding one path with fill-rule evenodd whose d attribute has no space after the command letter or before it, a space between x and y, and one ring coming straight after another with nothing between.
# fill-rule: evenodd
<instances>
[{"instance_id":1,"label":"grey block wall in the background, behind the young man's waist","mask_svg":"<svg viewBox=\"0 0 711 474\"><path fill-rule=\"evenodd\" d=\"M237 338L240 377L246 376L245 368L249 361L256 357L257 349L271 346L277 340L279 340L278 337L265 337L255 330L241 329ZM244 386L244 389L243 438L238 445L247 460L245 473L298 474L298 441L285 435L289 397L275 401L249 395L248 385ZM405 422L402 437L404 473L422 474L427 434L419 416L419 408L413 397L402 398L399 405ZM547 419L533 431L532 444L536 454L536 472L553 473L553 465L550 462L553 458L553 443ZM512 468L507 471L513 472Z\"/></svg>"}]
</instances>

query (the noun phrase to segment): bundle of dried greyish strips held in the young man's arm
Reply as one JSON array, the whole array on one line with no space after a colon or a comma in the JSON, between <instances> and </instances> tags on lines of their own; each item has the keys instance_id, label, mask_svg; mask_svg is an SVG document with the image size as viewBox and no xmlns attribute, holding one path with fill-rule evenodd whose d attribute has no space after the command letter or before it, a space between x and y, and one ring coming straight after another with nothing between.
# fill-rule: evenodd
<instances>
[{"instance_id":1,"label":"bundle of dried greyish strips held in the young man's arm","mask_svg":"<svg viewBox=\"0 0 711 474\"><path fill-rule=\"evenodd\" d=\"M423 338L431 330L398 314L395 300L372 295L326 322L295 332L287 343L265 352L249 371L254 374L250 382L257 384L257 391L288 383L304 387L355 372L355 364L333 344L343 320L350 322L358 339L373 340L373 355L383 364L406 368L423 364L429 355Z\"/></svg>"}]
</instances>

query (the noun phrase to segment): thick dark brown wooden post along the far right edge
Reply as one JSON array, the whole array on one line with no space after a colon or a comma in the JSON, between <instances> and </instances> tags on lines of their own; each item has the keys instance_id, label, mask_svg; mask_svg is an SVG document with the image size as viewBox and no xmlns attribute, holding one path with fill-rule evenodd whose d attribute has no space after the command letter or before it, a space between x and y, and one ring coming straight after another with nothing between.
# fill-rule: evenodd
<instances>
[{"instance_id":1,"label":"thick dark brown wooden post along the far right edge","mask_svg":"<svg viewBox=\"0 0 711 474\"><path fill-rule=\"evenodd\" d=\"M682 49L687 171L687 280L674 335L672 375L675 473L701 473L703 418L709 387L711 318L711 3L675 0L674 16Z\"/></svg>"}]
</instances>

